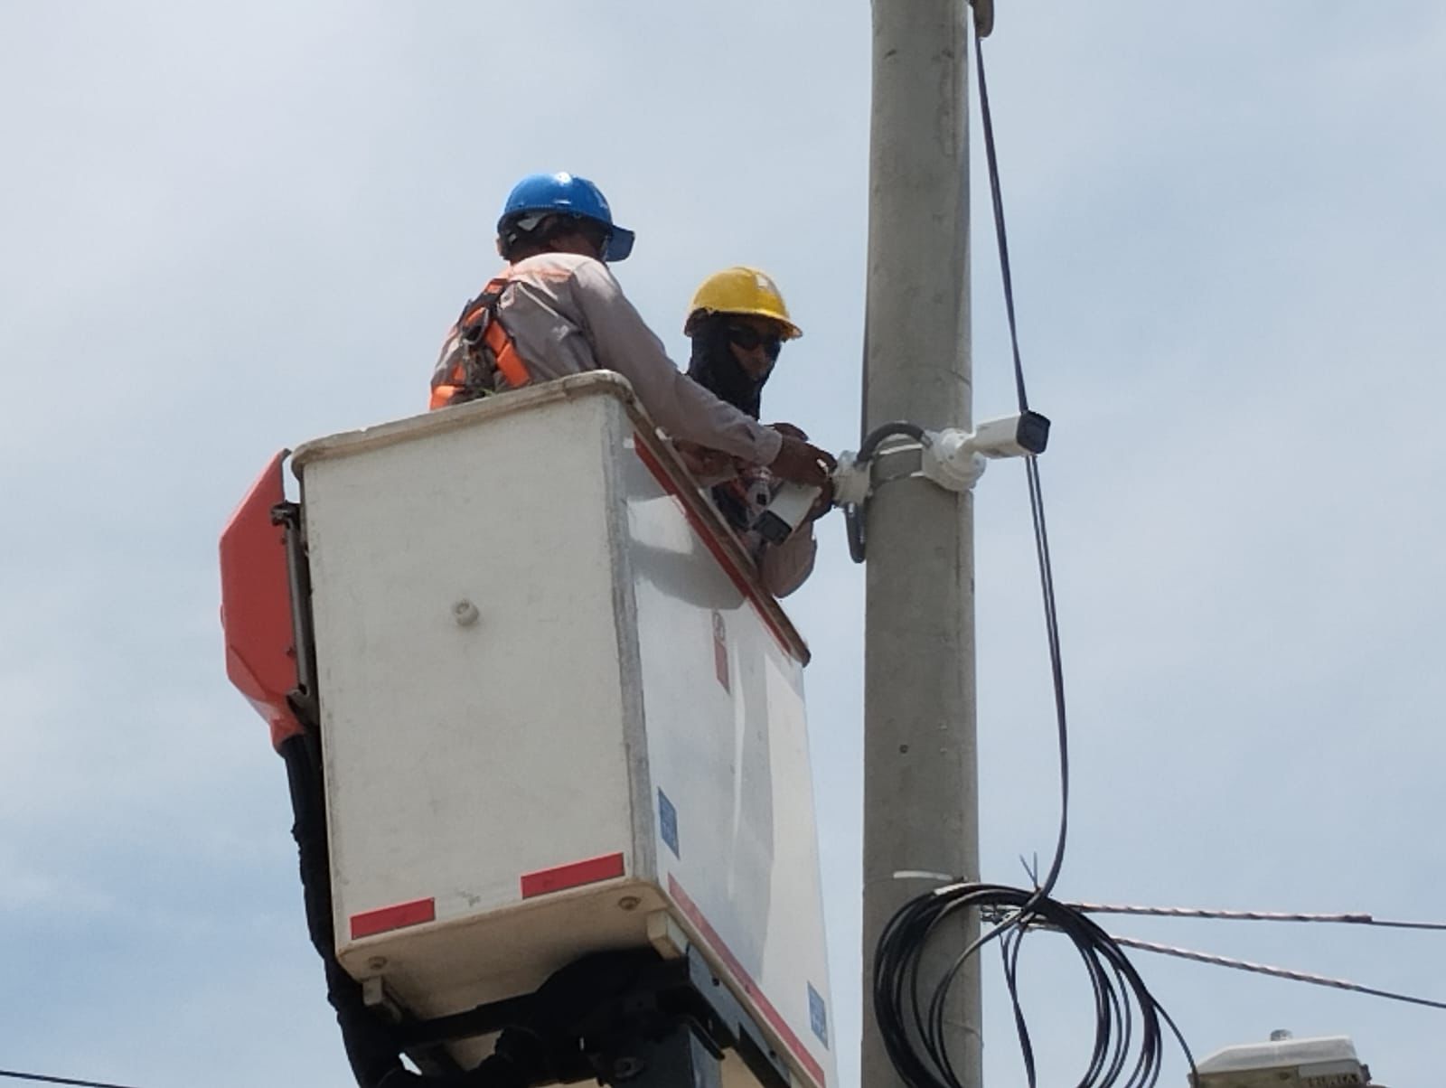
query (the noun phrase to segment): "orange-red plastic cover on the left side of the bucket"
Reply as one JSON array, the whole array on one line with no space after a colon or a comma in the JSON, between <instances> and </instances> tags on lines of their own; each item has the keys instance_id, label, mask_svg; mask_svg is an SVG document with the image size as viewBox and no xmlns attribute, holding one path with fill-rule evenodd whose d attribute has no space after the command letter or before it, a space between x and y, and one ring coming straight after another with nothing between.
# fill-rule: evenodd
<instances>
[{"instance_id":1,"label":"orange-red plastic cover on the left side of the bucket","mask_svg":"<svg viewBox=\"0 0 1446 1088\"><path fill-rule=\"evenodd\" d=\"M266 719L276 748L302 732L286 703L296 687L286 535L272 524L272 508L285 501L281 473L288 453L272 457L221 532L226 674Z\"/></svg>"}]
</instances>

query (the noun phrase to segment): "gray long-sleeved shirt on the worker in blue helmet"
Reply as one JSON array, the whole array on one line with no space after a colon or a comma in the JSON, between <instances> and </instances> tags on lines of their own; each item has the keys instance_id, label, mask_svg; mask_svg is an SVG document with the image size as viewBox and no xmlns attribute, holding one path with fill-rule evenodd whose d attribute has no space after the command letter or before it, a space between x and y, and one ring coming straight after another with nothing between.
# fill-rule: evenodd
<instances>
[{"instance_id":1,"label":"gray long-sleeved shirt on the worker in blue helmet","mask_svg":"<svg viewBox=\"0 0 1446 1088\"><path fill-rule=\"evenodd\" d=\"M769 464L778 456L782 435L678 370L600 260L539 253L509 265L502 275L512 282L497 302L497 318L534 382L616 370L668 434L753 464ZM442 347L444 354L454 350L453 340Z\"/></svg>"}]
</instances>

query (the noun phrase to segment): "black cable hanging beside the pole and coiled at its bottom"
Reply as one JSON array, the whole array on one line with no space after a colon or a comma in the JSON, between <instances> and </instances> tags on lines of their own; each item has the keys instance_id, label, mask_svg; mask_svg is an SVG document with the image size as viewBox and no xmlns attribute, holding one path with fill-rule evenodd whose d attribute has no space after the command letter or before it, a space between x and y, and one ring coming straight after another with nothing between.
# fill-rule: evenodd
<instances>
[{"instance_id":1,"label":"black cable hanging beside the pole and coiled at its bottom","mask_svg":"<svg viewBox=\"0 0 1446 1088\"><path fill-rule=\"evenodd\" d=\"M1024 414L1030 408L1030 398L1019 353L999 162L995 150L993 120L989 111L983 49L977 33L975 33L975 59L979 72L979 109L983 117L995 237L999 246L999 271L1004 278L1005 310L1009 320L1015 394L1019 412ZM1015 1032L1024 1058L1025 1078L1034 1088L1037 1069L1028 1023L1019 1001L1018 964L1025 933L1031 926L1045 926L1064 933L1073 942L1095 995L1095 1045L1084 1075L1079 1081L1079 1088L1108 1088L1116 1084L1124 1085L1124 1088L1150 1088L1157 1084L1164 1053L1161 1021L1168 1026L1184 1052L1193 1078L1196 1074L1194 1058L1184 1036L1168 1013L1155 1001L1121 946L1083 913L1050 898L1064 864L1064 846L1069 836L1069 723L1054 573L1044 519L1044 492L1040 483L1038 462L1034 456L1025 457L1025 477L1030 490L1035 557L1040 567L1040 592L1044 600L1044 626L1050 650L1050 679L1054 689L1056 736L1060 755L1060 825L1054 858L1043 881L1038 880L1038 874L1031 874L1034 888L1030 890L962 881L917 896L905 903L889 919L875 951L875 1019L895 1069L911 1088L962 1088L962 1081L953 1066L953 1056L946 1045L949 994L969 959L988 943L998 940ZM956 956L944 975L931 984L925 1014L921 1008L920 966L927 945L947 920L957 920L960 911L976 910L982 913L991 909L1005 909L1008 914L975 939ZM1131 1053L1135 1053L1132 1065L1129 1063Z\"/></svg>"}]
</instances>

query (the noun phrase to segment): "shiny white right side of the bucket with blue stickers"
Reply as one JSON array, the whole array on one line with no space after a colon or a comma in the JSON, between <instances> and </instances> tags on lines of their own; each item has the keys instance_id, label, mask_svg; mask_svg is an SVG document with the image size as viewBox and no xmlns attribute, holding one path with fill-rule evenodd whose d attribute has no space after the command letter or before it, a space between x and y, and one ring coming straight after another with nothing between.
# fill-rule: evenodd
<instances>
[{"instance_id":1,"label":"shiny white right side of the bucket with blue stickers","mask_svg":"<svg viewBox=\"0 0 1446 1088\"><path fill-rule=\"evenodd\" d=\"M623 467L659 887L800 1072L836 1084L803 666L648 460Z\"/></svg>"}]
</instances>

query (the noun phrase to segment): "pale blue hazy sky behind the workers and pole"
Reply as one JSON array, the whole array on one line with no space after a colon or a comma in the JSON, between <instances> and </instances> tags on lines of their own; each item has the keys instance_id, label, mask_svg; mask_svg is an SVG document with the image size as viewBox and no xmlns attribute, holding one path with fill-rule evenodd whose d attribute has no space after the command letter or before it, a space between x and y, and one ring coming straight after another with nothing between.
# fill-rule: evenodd
<instances>
[{"instance_id":1,"label":"pale blue hazy sky behind the workers and pole","mask_svg":"<svg viewBox=\"0 0 1446 1088\"><path fill-rule=\"evenodd\" d=\"M1446 13L998 4L985 43L1070 700L1060 898L1442 920ZM596 179L683 357L709 272L805 337L765 415L856 447L863 3L133 0L0 10L0 1068L348 1085L281 761L224 677L215 540L273 451L425 405L538 169ZM977 123L976 123L977 135ZM976 150L979 145L976 143ZM1012 405L973 163L976 417ZM787 602L843 1082L857 1082L863 577ZM1058 819L1018 464L976 495L982 872ZM1446 1000L1440 935L1112 932ZM1027 946L1041 1081L1073 955ZM1138 953L1197 1056L1349 1034L1439 1082L1439 1010ZM985 1071L1022 1084L998 972ZM1168 1053L1164 1084L1184 1082ZM1071 1076L1073 1074L1073 1076Z\"/></svg>"}]
</instances>

